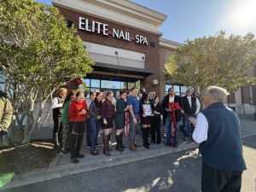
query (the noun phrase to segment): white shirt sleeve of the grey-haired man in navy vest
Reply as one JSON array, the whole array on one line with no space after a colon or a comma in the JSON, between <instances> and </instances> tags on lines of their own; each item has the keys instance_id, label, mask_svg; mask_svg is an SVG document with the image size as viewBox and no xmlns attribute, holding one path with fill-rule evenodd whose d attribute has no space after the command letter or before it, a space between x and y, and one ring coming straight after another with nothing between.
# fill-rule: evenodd
<instances>
[{"instance_id":1,"label":"white shirt sleeve of the grey-haired man in navy vest","mask_svg":"<svg viewBox=\"0 0 256 192\"><path fill-rule=\"evenodd\" d=\"M193 139L196 143L207 141L208 121L203 113L198 113L196 118L195 130L193 132Z\"/></svg>"}]
</instances>

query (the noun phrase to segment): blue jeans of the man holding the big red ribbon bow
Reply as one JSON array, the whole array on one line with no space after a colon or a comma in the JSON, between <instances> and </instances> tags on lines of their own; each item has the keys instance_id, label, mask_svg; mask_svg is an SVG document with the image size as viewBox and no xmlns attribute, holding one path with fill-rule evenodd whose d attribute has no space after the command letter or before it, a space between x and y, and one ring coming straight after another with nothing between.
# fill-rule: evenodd
<instances>
[{"instance_id":1,"label":"blue jeans of the man holding the big red ribbon bow","mask_svg":"<svg viewBox=\"0 0 256 192\"><path fill-rule=\"evenodd\" d=\"M171 113L166 116L166 145L171 145L171 135L172 135L172 119ZM176 122L176 131L174 135L174 144L178 144L179 139L179 123Z\"/></svg>"}]
</instances>

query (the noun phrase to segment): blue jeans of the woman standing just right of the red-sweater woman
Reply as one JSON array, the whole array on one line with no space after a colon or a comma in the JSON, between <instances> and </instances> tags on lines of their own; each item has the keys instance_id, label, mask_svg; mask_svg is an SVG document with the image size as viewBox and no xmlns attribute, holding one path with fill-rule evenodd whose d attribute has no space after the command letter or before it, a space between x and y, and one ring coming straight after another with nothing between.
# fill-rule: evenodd
<instances>
[{"instance_id":1,"label":"blue jeans of the woman standing just right of the red-sweater woman","mask_svg":"<svg viewBox=\"0 0 256 192\"><path fill-rule=\"evenodd\" d=\"M101 130L102 122L101 119L90 119L90 148L96 148L96 141Z\"/></svg>"}]
</instances>

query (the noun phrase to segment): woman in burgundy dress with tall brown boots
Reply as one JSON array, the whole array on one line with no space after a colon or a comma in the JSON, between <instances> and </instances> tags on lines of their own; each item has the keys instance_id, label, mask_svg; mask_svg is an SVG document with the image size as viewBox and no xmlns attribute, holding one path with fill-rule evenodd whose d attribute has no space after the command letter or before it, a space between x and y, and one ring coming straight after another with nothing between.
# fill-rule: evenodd
<instances>
[{"instance_id":1,"label":"woman in burgundy dress with tall brown boots","mask_svg":"<svg viewBox=\"0 0 256 192\"><path fill-rule=\"evenodd\" d=\"M113 127L113 117L115 107L112 103L113 92L108 91L105 102L102 102L102 129L104 130L103 143L104 149L103 154L109 156L109 140L111 135L111 129Z\"/></svg>"}]
</instances>

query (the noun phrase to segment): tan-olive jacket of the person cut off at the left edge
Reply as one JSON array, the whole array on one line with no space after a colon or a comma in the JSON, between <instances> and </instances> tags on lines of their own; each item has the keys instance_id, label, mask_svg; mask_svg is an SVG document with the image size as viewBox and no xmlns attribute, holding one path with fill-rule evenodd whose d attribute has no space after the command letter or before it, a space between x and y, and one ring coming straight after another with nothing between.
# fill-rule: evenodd
<instances>
[{"instance_id":1,"label":"tan-olive jacket of the person cut off at the left edge","mask_svg":"<svg viewBox=\"0 0 256 192\"><path fill-rule=\"evenodd\" d=\"M6 130L13 116L13 108L7 94L0 90L0 131Z\"/></svg>"}]
</instances>

